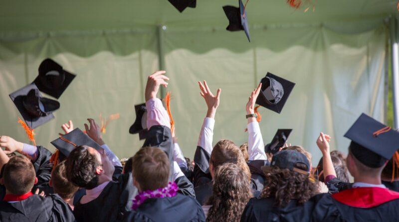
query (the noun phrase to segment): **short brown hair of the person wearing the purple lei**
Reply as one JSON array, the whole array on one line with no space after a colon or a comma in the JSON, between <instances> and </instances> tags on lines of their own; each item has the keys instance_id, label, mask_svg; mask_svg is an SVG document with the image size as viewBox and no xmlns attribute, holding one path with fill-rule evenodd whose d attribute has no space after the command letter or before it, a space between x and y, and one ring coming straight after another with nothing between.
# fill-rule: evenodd
<instances>
[{"instance_id":1,"label":"short brown hair of the person wearing the purple lei","mask_svg":"<svg viewBox=\"0 0 399 222\"><path fill-rule=\"evenodd\" d=\"M141 191L153 191L168 185L170 163L168 156L161 149L141 148L133 156L132 162L132 173Z\"/></svg>"}]
</instances>

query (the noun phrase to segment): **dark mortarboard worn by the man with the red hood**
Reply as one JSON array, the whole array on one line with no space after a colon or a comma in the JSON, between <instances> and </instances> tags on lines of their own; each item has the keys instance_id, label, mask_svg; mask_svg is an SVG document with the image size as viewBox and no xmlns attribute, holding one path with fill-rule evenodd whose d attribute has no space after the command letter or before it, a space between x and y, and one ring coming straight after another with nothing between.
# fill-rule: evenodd
<instances>
[{"instance_id":1,"label":"dark mortarboard worn by the man with the red hood","mask_svg":"<svg viewBox=\"0 0 399 222\"><path fill-rule=\"evenodd\" d=\"M345 134L349 149L364 165L379 168L392 158L399 146L399 132L362 113Z\"/></svg>"}]
</instances>

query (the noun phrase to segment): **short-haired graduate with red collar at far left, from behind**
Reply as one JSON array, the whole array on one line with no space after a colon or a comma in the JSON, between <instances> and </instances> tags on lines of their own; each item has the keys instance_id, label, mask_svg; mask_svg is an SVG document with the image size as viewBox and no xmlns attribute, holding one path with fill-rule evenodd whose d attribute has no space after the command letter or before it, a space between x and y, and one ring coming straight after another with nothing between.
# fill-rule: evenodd
<instances>
[{"instance_id":1,"label":"short-haired graduate with red collar at far left, from behind","mask_svg":"<svg viewBox=\"0 0 399 222\"><path fill-rule=\"evenodd\" d=\"M69 206L58 195L44 198L30 192L37 178L32 163L26 157L13 157L3 168L2 181L6 195L0 202L1 222L75 220Z\"/></svg>"}]
</instances>

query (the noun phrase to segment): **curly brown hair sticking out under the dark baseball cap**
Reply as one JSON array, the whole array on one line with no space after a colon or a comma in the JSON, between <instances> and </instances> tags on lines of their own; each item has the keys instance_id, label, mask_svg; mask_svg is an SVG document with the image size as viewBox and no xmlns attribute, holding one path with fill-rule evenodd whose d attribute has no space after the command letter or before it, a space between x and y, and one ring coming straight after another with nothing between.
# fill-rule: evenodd
<instances>
[{"instance_id":1,"label":"curly brown hair sticking out under the dark baseball cap","mask_svg":"<svg viewBox=\"0 0 399 222\"><path fill-rule=\"evenodd\" d=\"M295 167L307 171L304 164L297 163ZM279 167L267 167L264 174L267 186L261 197L273 197L276 207L284 207L291 200L303 204L317 193L317 184L311 182L307 175Z\"/></svg>"}]
</instances>

